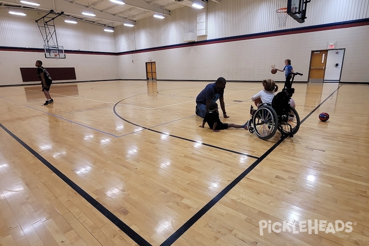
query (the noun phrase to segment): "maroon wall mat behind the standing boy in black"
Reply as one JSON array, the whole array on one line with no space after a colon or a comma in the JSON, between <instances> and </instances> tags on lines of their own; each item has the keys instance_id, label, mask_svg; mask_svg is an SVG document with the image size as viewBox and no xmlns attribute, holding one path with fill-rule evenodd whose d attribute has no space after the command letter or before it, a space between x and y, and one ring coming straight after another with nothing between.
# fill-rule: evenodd
<instances>
[{"instance_id":1,"label":"maroon wall mat behind the standing boy in black","mask_svg":"<svg viewBox=\"0 0 369 246\"><path fill-rule=\"evenodd\" d=\"M75 80L76 71L74 67L45 67L52 81ZM41 81L37 75L37 67L20 67L23 82Z\"/></svg>"}]
</instances>

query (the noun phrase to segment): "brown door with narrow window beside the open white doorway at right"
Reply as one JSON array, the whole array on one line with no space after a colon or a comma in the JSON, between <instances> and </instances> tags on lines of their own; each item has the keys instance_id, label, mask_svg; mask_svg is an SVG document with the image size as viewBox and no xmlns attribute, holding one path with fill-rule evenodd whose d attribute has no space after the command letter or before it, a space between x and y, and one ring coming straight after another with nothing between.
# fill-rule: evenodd
<instances>
[{"instance_id":1,"label":"brown door with narrow window beside the open white doorway at right","mask_svg":"<svg viewBox=\"0 0 369 246\"><path fill-rule=\"evenodd\" d=\"M328 51L311 51L309 82L323 82Z\"/></svg>"}]
</instances>

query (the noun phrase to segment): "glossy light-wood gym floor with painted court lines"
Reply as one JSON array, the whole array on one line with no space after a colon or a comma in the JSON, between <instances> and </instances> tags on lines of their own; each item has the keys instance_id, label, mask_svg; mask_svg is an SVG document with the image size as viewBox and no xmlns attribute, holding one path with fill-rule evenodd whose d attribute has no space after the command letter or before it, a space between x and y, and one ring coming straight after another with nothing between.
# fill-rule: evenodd
<instances>
[{"instance_id":1,"label":"glossy light-wood gym floor with painted court lines","mask_svg":"<svg viewBox=\"0 0 369 246\"><path fill-rule=\"evenodd\" d=\"M48 106L41 86L1 88L0 245L369 245L368 84L295 83L284 141L199 128L206 84L54 84ZM261 89L227 83L222 121L244 124ZM259 232L309 219L355 223Z\"/></svg>"}]
</instances>

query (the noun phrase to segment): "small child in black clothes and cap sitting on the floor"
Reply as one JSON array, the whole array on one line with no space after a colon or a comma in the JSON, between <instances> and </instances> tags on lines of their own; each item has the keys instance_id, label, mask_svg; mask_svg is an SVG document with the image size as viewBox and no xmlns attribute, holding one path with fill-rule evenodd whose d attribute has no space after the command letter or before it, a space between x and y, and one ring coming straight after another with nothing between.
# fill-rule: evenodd
<instances>
[{"instance_id":1,"label":"small child in black clothes and cap sitting on the floor","mask_svg":"<svg viewBox=\"0 0 369 246\"><path fill-rule=\"evenodd\" d=\"M235 125L235 124L227 124L222 123L219 119L219 111L218 111L218 104L217 103L210 103L209 104L209 112L206 112L203 125L199 127L204 128L205 123L209 125L213 132L219 132L219 130L224 130L228 128L245 128L245 125Z\"/></svg>"}]
</instances>

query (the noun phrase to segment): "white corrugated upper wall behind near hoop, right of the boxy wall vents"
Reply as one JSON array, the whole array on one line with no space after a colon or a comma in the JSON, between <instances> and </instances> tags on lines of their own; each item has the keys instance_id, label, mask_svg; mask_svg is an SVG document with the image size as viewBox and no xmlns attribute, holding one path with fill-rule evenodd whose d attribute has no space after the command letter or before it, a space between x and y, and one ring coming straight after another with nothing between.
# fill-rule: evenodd
<instances>
[{"instance_id":1,"label":"white corrugated upper wall behind near hoop, right of the boxy wall vents","mask_svg":"<svg viewBox=\"0 0 369 246\"><path fill-rule=\"evenodd\" d=\"M276 10L287 7L287 0L210 1L207 39L369 18L368 5L369 0L313 0L303 24L288 17L286 27L279 27Z\"/></svg>"}]
</instances>

